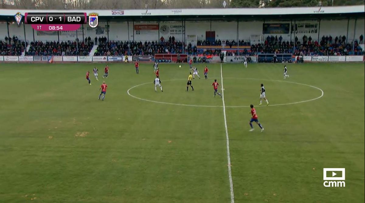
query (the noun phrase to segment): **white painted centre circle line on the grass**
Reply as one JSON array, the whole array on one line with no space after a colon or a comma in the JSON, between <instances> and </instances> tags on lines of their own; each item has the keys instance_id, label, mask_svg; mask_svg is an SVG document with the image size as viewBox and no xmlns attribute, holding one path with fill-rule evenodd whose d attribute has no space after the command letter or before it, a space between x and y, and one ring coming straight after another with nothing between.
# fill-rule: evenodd
<instances>
[{"instance_id":1,"label":"white painted centre circle line on the grass","mask_svg":"<svg viewBox=\"0 0 365 203\"><path fill-rule=\"evenodd\" d=\"M314 89L317 89L321 92L320 96L318 97L315 97L315 98L312 98L312 99L308 99L308 100L302 100L302 101L299 101L299 102L290 102L290 103L281 103L281 104L270 104L269 106L285 106L285 105L291 105L291 104L299 104L299 103L304 103L304 102L310 102L310 101L313 101L313 100L316 100L316 99L319 99L323 96L323 90L320 89L319 87L315 87L315 86L312 86L312 85L308 85L308 84L303 84L303 83L296 83L296 82L291 82L291 81L283 81L283 80L270 80L270 79L256 79L256 78L235 78L235 77L223 77L223 79L239 79L239 80L261 80L261 81L273 81L273 82L281 82L281 83L291 83L291 84L297 84L297 85L304 85L304 86L307 86L307 87L311 87L311 88L314 88ZM172 79L172 80L164 80L165 81L176 81L176 80L186 80L186 79ZM153 102L153 103L160 103L160 104L170 104L170 105L177 105L177 106L190 106L190 107L223 107L223 105L195 105L195 104L181 104L181 103L170 103L170 102L160 102L160 101L155 101L155 100L150 100L150 99L144 99L144 98L141 98L141 97L138 97L138 96L134 96L130 93L131 89L134 89L136 87L139 87L139 86L142 86L142 85L146 85L146 84L151 84L150 82L149 83L142 83L142 84L138 84L138 85L135 85L131 88L129 88L127 90L127 94L131 97L134 97L135 99L139 99L139 100L143 100L143 101L146 101L146 102ZM220 91L222 91L222 89L220 89ZM247 106L225 106L226 108L244 108L244 107L249 107L248 105Z\"/></svg>"}]
</instances>

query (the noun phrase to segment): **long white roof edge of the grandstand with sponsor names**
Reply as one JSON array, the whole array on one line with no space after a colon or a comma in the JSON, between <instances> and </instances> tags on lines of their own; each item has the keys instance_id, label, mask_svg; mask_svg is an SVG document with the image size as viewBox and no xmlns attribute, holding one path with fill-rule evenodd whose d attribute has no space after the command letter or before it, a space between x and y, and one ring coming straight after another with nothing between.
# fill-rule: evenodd
<instances>
[{"instance_id":1,"label":"long white roof edge of the grandstand with sponsor names","mask_svg":"<svg viewBox=\"0 0 365 203\"><path fill-rule=\"evenodd\" d=\"M220 8L220 9L146 9L146 10L25 10L0 9L0 19L14 21L15 13L95 12L99 20L271 20L271 19L345 19L364 18L364 5L341 7Z\"/></svg>"}]
</instances>

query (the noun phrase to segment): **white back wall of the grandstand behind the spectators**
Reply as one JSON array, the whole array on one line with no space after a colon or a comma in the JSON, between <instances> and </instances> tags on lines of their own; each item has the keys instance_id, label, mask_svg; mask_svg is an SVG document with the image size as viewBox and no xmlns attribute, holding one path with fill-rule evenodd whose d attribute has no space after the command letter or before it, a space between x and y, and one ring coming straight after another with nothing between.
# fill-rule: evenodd
<instances>
[{"instance_id":1,"label":"white back wall of the grandstand behind the spectators","mask_svg":"<svg viewBox=\"0 0 365 203\"><path fill-rule=\"evenodd\" d=\"M296 21L296 23L316 23L318 21ZM261 35L262 34L262 24L263 21L240 21L239 22L239 40L249 41L251 35ZM291 23L290 21L265 21L265 23ZM292 22L294 24L294 21ZM135 22L135 25L158 25L158 22ZM356 33L355 39L359 36L365 35L365 20L359 19L356 23ZM87 24L84 25L84 38L90 36L94 40L95 36L99 38L107 36L106 32L106 22L99 22L98 28L90 28ZM354 38L354 25L355 20L351 19L349 21L349 32L347 35L347 20L322 20L320 22L319 36L331 35L333 38L339 35L347 35L347 40L352 41ZM181 21L164 21L160 22L159 29L150 31L141 31L139 35L133 29L133 23L110 23L110 40L137 40L137 41L151 41L158 40L161 36L168 39L169 36L174 36L176 40L183 40L184 28ZM206 31L215 31L215 38L221 40L236 40L237 39L237 22L227 22L227 21L186 21L185 22L185 39L187 35L196 35L198 40L205 40ZM168 27L168 31L162 31L162 28ZM28 41L33 41L33 29L31 25L26 24L26 38ZM78 38L82 41L82 27L77 31ZM9 35L12 37L14 35L18 36L20 40L24 40L24 28L23 25L9 24ZM318 40L318 33L297 33L296 36L301 40L303 35L311 36L313 40ZM0 23L0 39L3 40L5 36L8 36L8 30L6 23ZM267 35L265 35L266 38ZM275 35L274 35L275 36ZM278 35L279 37L280 35ZM294 34L283 34L283 40L294 40ZM42 41L57 41L57 32L47 33L47 32L37 32L34 31L34 39ZM76 31L72 32L60 32L59 40L74 40L76 39Z\"/></svg>"}]
</instances>

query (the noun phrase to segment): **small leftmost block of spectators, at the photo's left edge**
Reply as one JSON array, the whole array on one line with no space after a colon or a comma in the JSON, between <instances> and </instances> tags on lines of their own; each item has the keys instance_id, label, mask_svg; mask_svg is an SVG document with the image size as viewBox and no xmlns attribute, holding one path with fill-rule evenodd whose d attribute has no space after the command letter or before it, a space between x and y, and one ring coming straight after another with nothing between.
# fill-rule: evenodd
<instances>
[{"instance_id":1,"label":"small leftmost block of spectators, at the photo's left edge","mask_svg":"<svg viewBox=\"0 0 365 203\"><path fill-rule=\"evenodd\" d=\"M2 56L20 56L27 47L25 41L18 40L17 36L7 37L5 40L0 40L0 53Z\"/></svg>"}]
</instances>

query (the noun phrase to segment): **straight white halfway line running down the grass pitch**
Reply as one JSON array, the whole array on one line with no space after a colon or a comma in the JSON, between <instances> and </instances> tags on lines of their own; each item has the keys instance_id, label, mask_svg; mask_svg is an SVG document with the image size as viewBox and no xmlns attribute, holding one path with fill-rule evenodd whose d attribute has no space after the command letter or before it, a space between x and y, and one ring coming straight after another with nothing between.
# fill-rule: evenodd
<instances>
[{"instance_id":1,"label":"straight white halfway line running down the grass pitch","mask_svg":"<svg viewBox=\"0 0 365 203\"><path fill-rule=\"evenodd\" d=\"M230 190L231 190L231 203L234 203L233 180L232 180L232 170L231 170L231 155L230 155L230 150L229 150L229 137L228 137L228 127L227 127L227 116L226 116L226 104L224 103L222 64L220 64L220 78L221 78L221 83L220 84L222 85L222 102L223 102L224 127L226 128L226 140L227 140L228 177L229 177L229 185L230 185Z\"/></svg>"}]
</instances>

